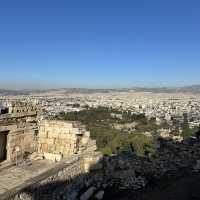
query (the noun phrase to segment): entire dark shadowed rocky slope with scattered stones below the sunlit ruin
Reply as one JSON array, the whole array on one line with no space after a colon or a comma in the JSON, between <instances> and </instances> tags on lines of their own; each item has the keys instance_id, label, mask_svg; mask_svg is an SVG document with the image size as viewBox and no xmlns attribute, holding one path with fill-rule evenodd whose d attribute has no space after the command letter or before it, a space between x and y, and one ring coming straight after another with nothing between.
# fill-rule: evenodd
<instances>
[{"instance_id":1,"label":"entire dark shadowed rocky slope with scattered stones below the sunlit ruin","mask_svg":"<svg viewBox=\"0 0 200 200\"><path fill-rule=\"evenodd\" d=\"M82 182L36 188L16 200L189 200L200 199L200 141L162 141L153 158L124 152L103 160L100 173ZM39 191L39 192L38 192ZM24 196L23 196L24 195Z\"/></svg>"}]
</instances>

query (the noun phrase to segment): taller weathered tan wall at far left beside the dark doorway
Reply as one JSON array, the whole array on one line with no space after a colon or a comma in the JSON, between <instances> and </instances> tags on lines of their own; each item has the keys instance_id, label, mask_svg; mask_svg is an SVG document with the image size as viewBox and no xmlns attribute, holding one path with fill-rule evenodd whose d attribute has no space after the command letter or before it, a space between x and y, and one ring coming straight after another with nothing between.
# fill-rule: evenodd
<instances>
[{"instance_id":1,"label":"taller weathered tan wall at far left beside the dark doorway","mask_svg":"<svg viewBox=\"0 0 200 200\"><path fill-rule=\"evenodd\" d=\"M37 114L34 106L11 102L8 113L0 115L0 134L7 134L6 161L20 162L26 155L37 151Z\"/></svg>"}]
</instances>

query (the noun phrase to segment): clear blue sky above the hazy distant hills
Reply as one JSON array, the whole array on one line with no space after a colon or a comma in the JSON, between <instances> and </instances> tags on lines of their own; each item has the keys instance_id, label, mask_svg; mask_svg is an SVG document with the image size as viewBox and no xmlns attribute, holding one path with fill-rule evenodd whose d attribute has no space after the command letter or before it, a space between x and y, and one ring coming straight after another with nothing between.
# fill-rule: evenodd
<instances>
[{"instance_id":1,"label":"clear blue sky above the hazy distant hills","mask_svg":"<svg viewBox=\"0 0 200 200\"><path fill-rule=\"evenodd\" d=\"M199 0L0 1L0 87L200 83Z\"/></svg>"}]
</instances>

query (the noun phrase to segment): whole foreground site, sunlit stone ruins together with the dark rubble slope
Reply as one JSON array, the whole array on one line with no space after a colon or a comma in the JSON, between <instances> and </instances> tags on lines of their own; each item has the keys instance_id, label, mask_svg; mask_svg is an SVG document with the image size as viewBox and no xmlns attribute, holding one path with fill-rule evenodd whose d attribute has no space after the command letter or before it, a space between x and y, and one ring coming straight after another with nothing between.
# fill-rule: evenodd
<instances>
[{"instance_id":1,"label":"whole foreground site, sunlit stone ruins together with the dark rubble slope","mask_svg":"<svg viewBox=\"0 0 200 200\"><path fill-rule=\"evenodd\" d=\"M200 130L158 138L152 157L133 148L103 156L84 124L41 116L37 104L0 104L0 200L199 197Z\"/></svg>"}]
</instances>

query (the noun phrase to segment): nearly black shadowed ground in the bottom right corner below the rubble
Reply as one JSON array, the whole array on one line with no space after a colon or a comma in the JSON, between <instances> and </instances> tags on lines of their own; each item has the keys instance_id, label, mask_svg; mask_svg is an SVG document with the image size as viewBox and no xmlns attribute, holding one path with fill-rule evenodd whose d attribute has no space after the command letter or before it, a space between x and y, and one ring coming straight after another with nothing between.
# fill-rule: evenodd
<instances>
[{"instance_id":1,"label":"nearly black shadowed ground in the bottom right corner below the rubble","mask_svg":"<svg viewBox=\"0 0 200 200\"><path fill-rule=\"evenodd\" d=\"M200 199L200 174L191 174L173 180L164 187L155 187L142 192L110 190L104 200L192 200Z\"/></svg>"}]
</instances>

